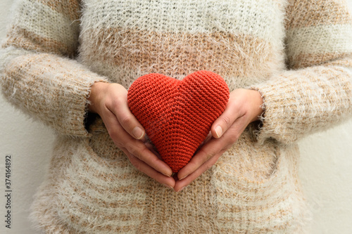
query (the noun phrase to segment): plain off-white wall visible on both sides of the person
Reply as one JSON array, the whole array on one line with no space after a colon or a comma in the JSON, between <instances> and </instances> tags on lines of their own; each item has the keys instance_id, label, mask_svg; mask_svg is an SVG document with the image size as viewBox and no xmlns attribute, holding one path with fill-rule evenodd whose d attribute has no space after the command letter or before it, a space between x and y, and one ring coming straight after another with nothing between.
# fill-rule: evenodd
<instances>
[{"instance_id":1,"label":"plain off-white wall visible on both sides of the person","mask_svg":"<svg viewBox=\"0 0 352 234\"><path fill-rule=\"evenodd\" d=\"M0 39L13 0L0 0ZM352 8L352 0L348 0ZM0 97L0 233L34 234L27 221L54 141L50 129L32 122ZM312 234L352 233L352 120L300 143L300 176L313 209ZM5 155L12 156L11 230L5 228Z\"/></svg>"}]
</instances>

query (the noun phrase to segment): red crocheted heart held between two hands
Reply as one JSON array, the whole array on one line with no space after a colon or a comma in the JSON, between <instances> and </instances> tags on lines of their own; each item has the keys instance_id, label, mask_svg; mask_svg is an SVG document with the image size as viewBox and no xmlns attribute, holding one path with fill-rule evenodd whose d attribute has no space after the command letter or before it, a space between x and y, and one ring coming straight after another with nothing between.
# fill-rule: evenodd
<instances>
[{"instance_id":1,"label":"red crocheted heart held between two hands","mask_svg":"<svg viewBox=\"0 0 352 234\"><path fill-rule=\"evenodd\" d=\"M163 74L146 74L133 82L127 100L161 158L177 172L205 140L211 124L225 110L229 96L222 77L198 71L182 81Z\"/></svg>"}]
</instances>

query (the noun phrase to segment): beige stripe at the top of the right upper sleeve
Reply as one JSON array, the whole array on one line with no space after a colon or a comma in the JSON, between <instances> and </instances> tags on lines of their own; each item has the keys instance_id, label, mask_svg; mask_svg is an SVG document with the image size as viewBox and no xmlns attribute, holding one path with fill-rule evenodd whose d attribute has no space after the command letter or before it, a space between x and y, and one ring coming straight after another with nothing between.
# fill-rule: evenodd
<instances>
[{"instance_id":1,"label":"beige stripe at the top of the right upper sleeve","mask_svg":"<svg viewBox=\"0 0 352 234\"><path fill-rule=\"evenodd\" d=\"M297 27L351 23L351 15L344 1L289 0L289 2L290 4L287 6L287 30Z\"/></svg>"}]
</instances>

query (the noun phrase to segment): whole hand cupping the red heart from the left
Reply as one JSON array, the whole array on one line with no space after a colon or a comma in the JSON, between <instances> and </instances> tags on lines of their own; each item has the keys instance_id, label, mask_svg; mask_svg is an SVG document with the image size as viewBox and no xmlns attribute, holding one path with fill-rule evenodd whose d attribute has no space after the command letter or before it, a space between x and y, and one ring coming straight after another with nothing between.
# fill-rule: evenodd
<instances>
[{"instance_id":1,"label":"whole hand cupping the red heart from the left","mask_svg":"<svg viewBox=\"0 0 352 234\"><path fill-rule=\"evenodd\" d=\"M96 112L108 134L139 171L170 188L175 186L170 167L144 143L145 131L127 104L127 90L120 84L96 82L88 98L89 111Z\"/></svg>"}]
</instances>

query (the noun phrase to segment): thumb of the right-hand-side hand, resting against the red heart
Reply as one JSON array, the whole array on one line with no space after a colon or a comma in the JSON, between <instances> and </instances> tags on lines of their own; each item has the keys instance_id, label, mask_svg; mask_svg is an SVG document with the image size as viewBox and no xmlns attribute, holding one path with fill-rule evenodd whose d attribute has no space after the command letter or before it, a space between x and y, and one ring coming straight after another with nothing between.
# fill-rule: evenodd
<instances>
[{"instance_id":1,"label":"thumb of the right-hand-side hand, resting against the red heart","mask_svg":"<svg viewBox=\"0 0 352 234\"><path fill-rule=\"evenodd\" d=\"M241 116L239 105L232 96L230 96L229 102L226 105L225 111L222 112L220 117L213 122L211 126L211 134L215 138L220 138L225 134L227 129L230 129L234 121Z\"/></svg>"}]
</instances>

